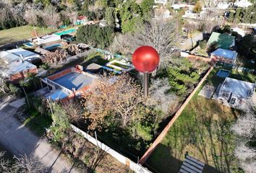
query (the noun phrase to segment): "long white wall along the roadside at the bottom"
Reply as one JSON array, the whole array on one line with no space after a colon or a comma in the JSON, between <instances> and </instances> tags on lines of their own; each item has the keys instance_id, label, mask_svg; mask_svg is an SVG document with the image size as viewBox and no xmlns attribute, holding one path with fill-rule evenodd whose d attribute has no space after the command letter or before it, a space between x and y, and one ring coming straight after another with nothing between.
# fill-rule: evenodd
<instances>
[{"instance_id":1,"label":"long white wall along the roadside at the bottom","mask_svg":"<svg viewBox=\"0 0 256 173\"><path fill-rule=\"evenodd\" d=\"M109 146L106 146L101 141L96 140L93 138L93 136L90 136L88 133L85 133L84 131L80 130L74 125L71 125L72 129L76 133L80 133L82 136L84 136L90 143L93 143L95 146L100 147L103 151L106 151L106 153L110 154L114 158L116 158L118 161L120 161L122 164L127 165L129 169L132 169L132 171L137 173L152 173L145 167L142 167L141 164L136 164L134 161L131 161L129 158L119 154L119 152L115 151L114 149L110 148Z\"/></svg>"}]
</instances>

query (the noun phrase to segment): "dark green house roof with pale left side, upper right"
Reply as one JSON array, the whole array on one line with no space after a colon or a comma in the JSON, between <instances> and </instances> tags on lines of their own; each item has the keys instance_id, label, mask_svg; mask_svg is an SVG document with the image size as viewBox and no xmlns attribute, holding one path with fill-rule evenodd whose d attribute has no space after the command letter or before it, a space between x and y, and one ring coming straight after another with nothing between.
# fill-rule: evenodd
<instances>
[{"instance_id":1,"label":"dark green house roof with pale left side, upper right","mask_svg":"<svg viewBox=\"0 0 256 173\"><path fill-rule=\"evenodd\" d=\"M213 32L208 40L208 45L216 45L216 48L229 49L234 41L233 35L220 34Z\"/></svg>"}]
</instances>

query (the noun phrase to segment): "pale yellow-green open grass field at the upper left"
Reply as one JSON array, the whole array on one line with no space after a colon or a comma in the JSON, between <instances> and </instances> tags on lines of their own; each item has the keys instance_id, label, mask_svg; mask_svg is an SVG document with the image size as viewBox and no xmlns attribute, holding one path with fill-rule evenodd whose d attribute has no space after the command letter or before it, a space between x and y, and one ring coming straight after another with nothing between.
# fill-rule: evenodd
<instances>
[{"instance_id":1,"label":"pale yellow-green open grass field at the upper left","mask_svg":"<svg viewBox=\"0 0 256 173\"><path fill-rule=\"evenodd\" d=\"M56 30L35 27L35 31L37 32L37 35L46 35L50 32L55 32ZM29 25L25 25L22 27L13 27L8 30L0 30L0 45L24 40L29 37L34 37L35 35L33 34L33 32L34 28Z\"/></svg>"}]
</instances>

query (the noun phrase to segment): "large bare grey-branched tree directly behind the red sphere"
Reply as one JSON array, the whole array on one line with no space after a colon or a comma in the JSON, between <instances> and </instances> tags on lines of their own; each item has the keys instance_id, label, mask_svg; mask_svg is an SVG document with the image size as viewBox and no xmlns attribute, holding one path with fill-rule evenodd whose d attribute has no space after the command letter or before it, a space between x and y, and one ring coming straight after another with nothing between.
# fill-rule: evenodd
<instances>
[{"instance_id":1,"label":"large bare grey-branched tree directly behind the red sphere","mask_svg":"<svg viewBox=\"0 0 256 173\"><path fill-rule=\"evenodd\" d=\"M150 45L158 50L161 58L159 67L166 67L170 62L172 53L174 53L174 50L171 48L173 48L177 39L178 25L174 19L165 19L164 22L163 20L164 19L152 19L145 25L140 25L135 33L129 33L122 37L120 35L117 36L114 39L111 49L122 52L124 48L125 50L129 50L129 53L132 54L138 47Z\"/></svg>"}]
</instances>

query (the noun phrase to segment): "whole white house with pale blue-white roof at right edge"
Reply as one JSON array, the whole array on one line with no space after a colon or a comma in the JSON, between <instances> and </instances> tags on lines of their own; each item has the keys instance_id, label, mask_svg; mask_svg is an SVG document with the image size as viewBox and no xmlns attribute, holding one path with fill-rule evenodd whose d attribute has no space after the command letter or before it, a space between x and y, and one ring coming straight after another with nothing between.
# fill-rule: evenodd
<instances>
[{"instance_id":1,"label":"whole white house with pale blue-white roof at right edge","mask_svg":"<svg viewBox=\"0 0 256 173\"><path fill-rule=\"evenodd\" d=\"M255 93L256 84L226 77L217 91L217 99L224 105L242 108Z\"/></svg>"}]
</instances>

